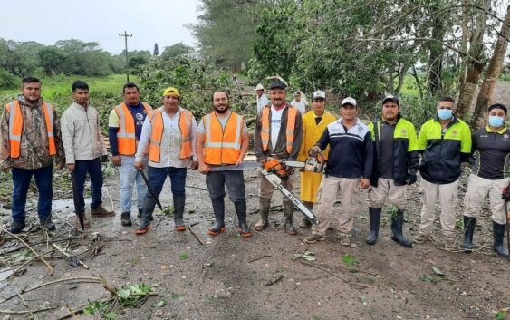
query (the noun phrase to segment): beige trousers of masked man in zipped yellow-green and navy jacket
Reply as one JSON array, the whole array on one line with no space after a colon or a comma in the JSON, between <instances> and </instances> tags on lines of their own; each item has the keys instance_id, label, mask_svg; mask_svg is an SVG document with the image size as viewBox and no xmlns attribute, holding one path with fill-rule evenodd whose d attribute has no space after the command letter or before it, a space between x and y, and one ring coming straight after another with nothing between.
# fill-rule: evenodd
<instances>
[{"instance_id":1,"label":"beige trousers of masked man in zipped yellow-green and navy jacket","mask_svg":"<svg viewBox=\"0 0 510 320\"><path fill-rule=\"evenodd\" d=\"M443 236L446 238L454 237L455 228L455 208L458 203L458 179L452 183L438 184L431 183L421 179L420 189L422 192L421 200L421 222L419 224L419 234L428 236L432 232L434 218L436 217L436 200L439 197L441 207L440 221Z\"/></svg>"}]
</instances>

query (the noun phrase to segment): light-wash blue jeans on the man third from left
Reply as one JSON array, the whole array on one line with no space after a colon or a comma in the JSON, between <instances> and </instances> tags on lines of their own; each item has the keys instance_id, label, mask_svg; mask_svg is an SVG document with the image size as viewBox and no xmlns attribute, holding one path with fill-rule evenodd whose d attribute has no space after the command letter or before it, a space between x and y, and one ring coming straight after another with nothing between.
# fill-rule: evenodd
<instances>
[{"instance_id":1,"label":"light-wash blue jeans on the man third from left","mask_svg":"<svg viewBox=\"0 0 510 320\"><path fill-rule=\"evenodd\" d=\"M131 212L131 199L133 197L133 187L137 186L137 207L143 208L143 197L147 192L145 182L141 178L139 170L134 167L135 157L120 156L120 208L122 212ZM147 175L147 158L143 160L143 171Z\"/></svg>"}]
</instances>

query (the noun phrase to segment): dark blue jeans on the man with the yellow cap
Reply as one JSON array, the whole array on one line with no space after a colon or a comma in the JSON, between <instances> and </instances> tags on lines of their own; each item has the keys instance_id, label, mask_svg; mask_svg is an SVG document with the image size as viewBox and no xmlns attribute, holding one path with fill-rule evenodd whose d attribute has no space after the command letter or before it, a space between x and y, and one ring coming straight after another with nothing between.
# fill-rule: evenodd
<instances>
[{"instance_id":1,"label":"dark blue jeans on the man with the yellow cap","mask_svg":"<svg viewBox=\"0 0 510 320\"><path fill-rule=\"evenodd\" d=\"M186 185L186 168L175 168L175 167L167 167L167 168L155 168L149 166L149 184L150 187L156 193L156 196L159 197L159 193L163 189L163 185L165 184L165 180L167 176L170 177L170 189L172 190L172 195L174 198L176 197L184 197L185 193L185 185ZM152 195L147 190L144 199L144 211L145 213L151 215L154 211L154 206L156 205L155 199L152 198Z\"/></svg>"}]
</instances>

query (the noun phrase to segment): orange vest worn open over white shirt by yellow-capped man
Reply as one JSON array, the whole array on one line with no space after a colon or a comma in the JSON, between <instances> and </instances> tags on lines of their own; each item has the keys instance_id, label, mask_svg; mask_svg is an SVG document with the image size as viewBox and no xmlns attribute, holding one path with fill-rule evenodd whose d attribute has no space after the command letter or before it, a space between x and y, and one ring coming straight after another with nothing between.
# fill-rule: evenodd
<instances>
[{"instance_id":1,"label":"orange vest worn open over white shirt by yellow-capped man","mask_svg":"<svg viewBox=\"0 0 510 320\"><path fill-rule=\"evenodd\" d=\"M149 144L149 160L159 163L161 159L161 139L163 138L163 114L159 109L150 112L149 121L152 125ZM178 128L180 129L180 159L191 157L191 121L193 113L186 109L179 110Z\"/></svg>"}]
</instances>

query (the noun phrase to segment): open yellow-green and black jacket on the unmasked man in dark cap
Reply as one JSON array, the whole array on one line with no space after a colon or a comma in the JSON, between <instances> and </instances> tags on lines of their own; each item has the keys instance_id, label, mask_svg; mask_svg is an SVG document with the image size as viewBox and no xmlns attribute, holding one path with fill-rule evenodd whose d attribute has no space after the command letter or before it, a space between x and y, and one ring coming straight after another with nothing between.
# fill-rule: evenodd
<instances>
[{"instance_id":1,"label":"open yellow-green and black jacket on the unmasked man in dark cap","mask_svg":"<svg viewBox=\"0 0 510 320\"><path fill-rule=\"evenodd\" d=\"M368 125L374 142L374 166L370 177L370 184L377 187L380 173L380 120ZM395 131L393 132L393 181L396 186L407 183L408 174L416 175L419 163L419 148L414 125L399 115Z\"/></svg>"}]
</instances>

